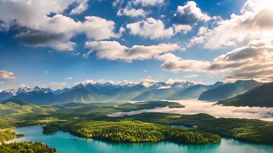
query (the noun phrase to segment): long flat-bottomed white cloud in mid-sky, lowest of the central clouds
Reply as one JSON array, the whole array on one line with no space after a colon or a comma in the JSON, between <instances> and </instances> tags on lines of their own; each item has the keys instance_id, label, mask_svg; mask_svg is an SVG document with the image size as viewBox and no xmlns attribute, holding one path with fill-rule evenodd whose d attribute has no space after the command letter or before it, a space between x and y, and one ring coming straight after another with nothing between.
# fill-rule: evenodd
<instances>
[{"instance_id":1,"label":"long flat-bottomed white cloud in mid-sky, lowest of the central clouds","mask_svg":"<svg viewBox=\"0 0 273 153\"><path fill-rule=\"evenodd\" d=\"M85 43L85 47L90 48L90 51L84 55L85 57L97 51L98 58L125 61L151 59L165 52L181 50L177 44L162 43L152 46L134 45L129 48L121 45L117 41L90 41Z\"/></svg>"}]
</instances>

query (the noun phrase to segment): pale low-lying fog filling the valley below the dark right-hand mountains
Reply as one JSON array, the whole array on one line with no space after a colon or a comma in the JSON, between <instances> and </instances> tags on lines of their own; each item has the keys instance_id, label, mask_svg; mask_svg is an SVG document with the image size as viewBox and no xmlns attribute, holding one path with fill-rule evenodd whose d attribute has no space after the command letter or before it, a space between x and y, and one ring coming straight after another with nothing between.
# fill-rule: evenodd
<instances>
[{"instance_id":1,"label":"pale low-lying fog filling the valley below the dark right-hand mountains","mask_svg":"<svg viewBox=\"0 0 273 153\"><path fill-rule=\"evenodd\" d=\"M110 117L119 117L124 115L134 115L144 112L161 112L161 113L175 113L175 114L198 114L206 113L214 117L225 117L225 118L251 118L261 119L267 121L273 121L273 108L266 107L234 107L234 106L221 106L213 105L215 103L198 101L198 100L180 100L172 101L178 102L186 108L156 108L156 109L145 109L131 112L118 112L109 114Z\"/></svg>"}]
</instances>

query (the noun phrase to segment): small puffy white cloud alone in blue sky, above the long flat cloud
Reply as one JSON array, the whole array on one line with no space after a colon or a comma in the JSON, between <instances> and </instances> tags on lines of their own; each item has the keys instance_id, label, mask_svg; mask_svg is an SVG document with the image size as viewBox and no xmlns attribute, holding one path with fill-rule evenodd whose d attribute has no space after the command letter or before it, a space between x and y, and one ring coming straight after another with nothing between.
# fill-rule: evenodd
<instances>
[{"instance_id":1,"label":"small puffy white cloud alone in blue sky, above the long flat cloud","mask_svg":"<svg viewBox=\"0 0 273 153\"><path fill-rule=\"evenodd\" d=\"M172 27L165 29L164 23L154 18L147 18L139 22L127 24L126 28L129 29L132 35L139 35L150 39L170 38L175 34Z\"/></svg>"}]
</instances>

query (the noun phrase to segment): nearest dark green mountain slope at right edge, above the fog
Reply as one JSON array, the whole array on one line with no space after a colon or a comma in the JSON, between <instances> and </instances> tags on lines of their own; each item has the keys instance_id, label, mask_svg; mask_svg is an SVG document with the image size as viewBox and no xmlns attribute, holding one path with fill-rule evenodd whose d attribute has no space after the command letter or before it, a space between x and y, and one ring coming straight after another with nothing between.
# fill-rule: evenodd
<instances>
[{"instance_id":1,"label":"nearest dark green mountain slope at right edge, above the fog","mask_svg":"<svg viewBox=\"0 0 273 153\"><path fill-rule=\"evenodd\" d=\"M239 96L219 101L224 106L273 107L273 83L264 84Z\"/></svg>"}]
</instances>

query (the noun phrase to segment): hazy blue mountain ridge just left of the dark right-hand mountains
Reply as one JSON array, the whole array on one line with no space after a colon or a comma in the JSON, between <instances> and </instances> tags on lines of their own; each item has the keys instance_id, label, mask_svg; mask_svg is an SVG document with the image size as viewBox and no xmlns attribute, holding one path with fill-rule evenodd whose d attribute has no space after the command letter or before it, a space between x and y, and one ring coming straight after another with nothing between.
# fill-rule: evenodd
<instances>
[{"instance_id":1,"label":"hazy blue mountain ridge just left of the dark right-hand mountains","mask_svg":"<svg viewBox=\"0 0 273 153\"><path fill-rule=\"evenodd\" d=\"M216 82L214 85L195 85L191 86L186 89L180 89L173 95L171 95L168 99L175 99L175 100L181 100L181 99L197 99L199 96L210 89L217 88L219 86L222 86L224 83L222 82Z\"/></svg>"}]
</instances>

